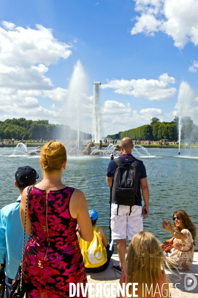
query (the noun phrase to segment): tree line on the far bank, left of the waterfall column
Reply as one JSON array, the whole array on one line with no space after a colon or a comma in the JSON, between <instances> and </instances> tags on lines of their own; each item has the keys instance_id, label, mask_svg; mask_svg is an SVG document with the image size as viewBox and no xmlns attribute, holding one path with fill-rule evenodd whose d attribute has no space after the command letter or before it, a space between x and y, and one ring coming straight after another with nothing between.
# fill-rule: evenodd
<instances>
[{"instance_id":1,"label":"tree line on the far bank, left of the waterfall column","mask_svg":"<svg viewBox=\"0 0 198 298\"><path fill-rule=\"evenodd\" d=\"M80 139L91 139L88 133L79 133ZM26 120L13 118L0 121L0 138L17 140L75 140L77 131L68 125L49 124L49 120Z\"/></svg>"}]
</instances>

